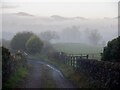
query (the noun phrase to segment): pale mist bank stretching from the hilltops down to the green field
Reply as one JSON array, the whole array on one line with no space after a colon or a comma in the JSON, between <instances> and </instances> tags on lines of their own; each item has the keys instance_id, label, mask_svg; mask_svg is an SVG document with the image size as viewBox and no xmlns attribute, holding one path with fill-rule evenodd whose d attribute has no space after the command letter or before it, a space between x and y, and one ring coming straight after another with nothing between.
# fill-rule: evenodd
<instances>
[{"instance_id":1,"label":"pale mist bank stretching from the hilltops down to the green field","mask_svg":"<svg viewBox=\"0 0 120 90\"><path fill-rule=\"evenodd\" d=\"M109 18L86 18L86 17L63 17L52 15L50 17L35 16L25 12L3 13L2 35L10 40L17 32L32 31L40 36L41 32L55 31L59 39L52 39L52 43L87 43L88 34L97 31L100 36L99 44L117 37L117 17ZM1 16L0 15L0 16Z\"/></svg>"}]
</instances>

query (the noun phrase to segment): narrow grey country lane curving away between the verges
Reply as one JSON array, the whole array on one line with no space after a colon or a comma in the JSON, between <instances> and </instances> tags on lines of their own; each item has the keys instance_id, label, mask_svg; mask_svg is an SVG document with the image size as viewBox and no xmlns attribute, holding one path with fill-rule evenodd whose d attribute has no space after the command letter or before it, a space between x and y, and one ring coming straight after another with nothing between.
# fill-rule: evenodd
<instances>
[{"instance_id":1,"label":"narrow grey country lane curving away between the verges","mask_svg":"<svg viewBox=\"0 0 120 90\"><path fill-rule=\"evenodd\" d=\"M37 60L28 64L31 69L20 88L75 88L55 67Z\"/></svg>"}]
</instances>

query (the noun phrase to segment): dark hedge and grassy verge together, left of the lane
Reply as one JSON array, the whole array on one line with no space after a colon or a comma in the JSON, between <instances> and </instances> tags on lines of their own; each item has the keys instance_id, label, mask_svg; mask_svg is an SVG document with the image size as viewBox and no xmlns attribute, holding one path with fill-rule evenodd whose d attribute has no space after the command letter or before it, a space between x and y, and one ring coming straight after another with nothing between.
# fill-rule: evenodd
<instances>
[{"instance_id":1,"label":"dark hedge and grassy verge together, left of the lane","mask_svg":"<svg viewBox=\"0 0 120 90\"><path fill-rule=\"evenodd\" d=\"M11 54L9 49L1 47L2 49L2 84L3 88L12 87L25 76L24 70L26 68L26 58L21 53ZM25 72L26 73L26 72ZM10 86L12 85L12 86Z\"/></svg>"}]
</instances>

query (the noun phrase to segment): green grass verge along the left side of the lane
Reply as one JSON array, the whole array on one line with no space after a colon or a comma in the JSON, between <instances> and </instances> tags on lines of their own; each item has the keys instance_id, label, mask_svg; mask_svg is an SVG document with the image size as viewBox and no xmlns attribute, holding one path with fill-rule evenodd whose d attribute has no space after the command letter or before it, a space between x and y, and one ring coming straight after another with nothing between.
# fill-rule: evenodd
<instances>
[{"instance_id":1,"label":"green grass verge along the left side of the lane","mask_svg":"<svg viewBox=\"0 0 120 90\"><path fill-rule=\"evenodd\" d=\"M20 81L23 80L27 75L27 68L20 67L17 71L10 76L8 81L5 83L5 88L15 88Z\"/></svg>"}]
</instances>

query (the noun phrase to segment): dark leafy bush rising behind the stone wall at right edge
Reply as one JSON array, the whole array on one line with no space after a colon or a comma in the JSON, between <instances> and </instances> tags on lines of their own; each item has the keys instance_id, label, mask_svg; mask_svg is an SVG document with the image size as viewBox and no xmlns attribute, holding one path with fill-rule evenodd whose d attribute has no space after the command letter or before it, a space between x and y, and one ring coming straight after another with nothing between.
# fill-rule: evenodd
<instances>
[{"instance_id":1,"label":"dark leafy bush rising behind the stone wall at right edge","mask_svg":"<svg viewBox=\"0 0 120 90\"><path fill-rule=\"evenodd\" d=\"M107 46L104 47L102 60L120 62L120 36L109 41Z\"/></svg>"}]
</instances>

